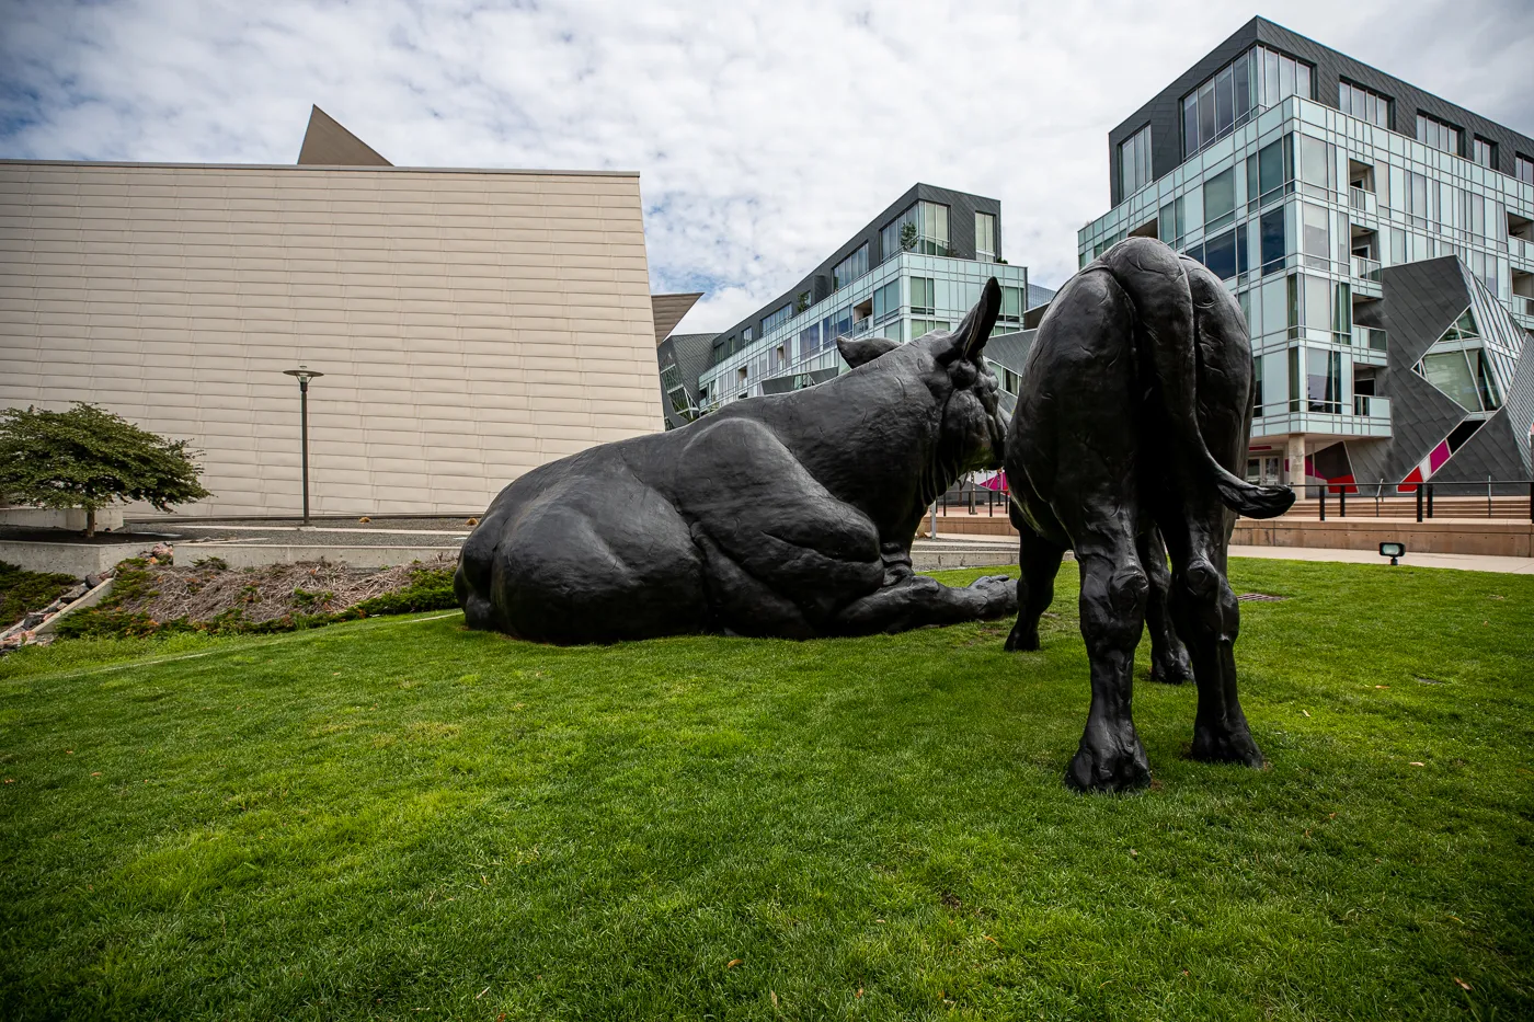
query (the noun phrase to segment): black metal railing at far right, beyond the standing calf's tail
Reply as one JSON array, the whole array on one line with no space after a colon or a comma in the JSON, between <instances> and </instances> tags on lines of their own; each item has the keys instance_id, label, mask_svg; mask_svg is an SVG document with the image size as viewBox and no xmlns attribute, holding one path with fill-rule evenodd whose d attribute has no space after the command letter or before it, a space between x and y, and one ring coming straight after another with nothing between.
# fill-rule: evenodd
<instances>
[{"instance_id":1,"label":"black metal railing at far right, beyond the standing calf's tail","mask_svg":"<svg viewBox=\"0 0 1534 1022\"><path fill-rule=\"evenodd\" d=\"M1318 517L1439 517L1522 519L1534 522L1534 480L1493 479L1483 482L1425 483L1305 483L1299 496L1316 500ZM1525 505L1526 499L1526 505ZM1445 503L1448 500L1448 503Z\"/></svg>"}]
</instances>

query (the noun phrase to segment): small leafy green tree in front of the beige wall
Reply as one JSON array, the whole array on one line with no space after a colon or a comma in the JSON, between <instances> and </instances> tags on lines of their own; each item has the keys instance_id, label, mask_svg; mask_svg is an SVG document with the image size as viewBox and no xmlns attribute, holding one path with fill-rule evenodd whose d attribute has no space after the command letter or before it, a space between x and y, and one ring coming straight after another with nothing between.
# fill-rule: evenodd
<instances>
[{"instance_id":1,"label":"small leafy green tree in front of the beige wall","mask_svg":"<svg viewBox=\"0 0 1534 1022\"><path fill-rule=\"evenodd\" d=\"M158 511L210 496L186 440L140 430L104 408L75 402L69 411L0 411L0 494L44 508L95 513L114 500L146 500Z\"/></svg>"}]
</instances>

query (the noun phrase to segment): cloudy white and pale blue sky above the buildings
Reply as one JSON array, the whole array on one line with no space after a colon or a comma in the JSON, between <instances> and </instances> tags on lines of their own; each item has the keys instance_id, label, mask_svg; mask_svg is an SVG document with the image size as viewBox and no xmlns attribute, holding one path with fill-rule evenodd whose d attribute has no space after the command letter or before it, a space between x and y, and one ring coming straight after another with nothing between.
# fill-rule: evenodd
<instances>
[{"instance_id":1,"label":"cloudy white and pale blue sky above the buildings","mask_svg":"<svg viewBox=\"0 0 1534 1022\"><path fill-rule=\"evenodd\" d=\"M399 166L634 169L723 328L914 181L1060 284L1108 130L1253 14L1534 135L1529 0L0 0L0 157L293 163L318 103Z\"/></svg>"}]
</instances>

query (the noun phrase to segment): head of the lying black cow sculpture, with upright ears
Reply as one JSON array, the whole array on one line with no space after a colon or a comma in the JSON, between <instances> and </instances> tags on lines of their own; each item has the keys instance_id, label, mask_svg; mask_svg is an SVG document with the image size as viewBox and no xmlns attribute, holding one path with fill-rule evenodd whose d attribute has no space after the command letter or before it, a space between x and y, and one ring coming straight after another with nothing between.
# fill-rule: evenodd
<instances>
[{"instance_id":1,"label":"head of the lying black cow sculpture, with upright ears","mask_svg":"<svg viewBox=\"0 0 1534 1022\"><path fill-rule=\"evenodd\" d=\"M980 301L953 331L934 330L910 344L885 338L838 341L842 358L853 368L890 354L890 368L914 371L942 410L931 466L931 500L963 473L1002 466L1006 443L1006 417L997 399L996 374L986 365L985 342L1002 310L1002 288L992 276L980 288ZM882 365L882 364L881 364Z\"/></svg>"}]
</instances>

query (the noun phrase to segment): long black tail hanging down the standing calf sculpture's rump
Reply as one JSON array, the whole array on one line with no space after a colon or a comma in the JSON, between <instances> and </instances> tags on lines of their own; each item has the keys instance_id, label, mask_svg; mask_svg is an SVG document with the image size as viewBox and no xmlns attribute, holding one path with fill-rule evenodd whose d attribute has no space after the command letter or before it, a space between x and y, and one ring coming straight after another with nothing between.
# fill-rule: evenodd
<instances>
[{"instance_id":1,"label":"long black tail hanging down the standing calf sculpture's rump","mask_svg":"<svg viewBox=\"0 0 1534 1022\"><path fill-rule=\"evenodd\" d=\"M1166 246L1134 238L1114 246L1101 259L1104 269L1129 296L1137 316L1137 347L1155 374L1163 411L1189 453L1197 471L1220 491L1220 500L1249 519L1272 519L1295 503L1289 486L1256 486L1221 465L1198 428L1198 333L1220 330L1223 312L1216 302L1235 305L1223 288L1189 282L1180 258ZM1209 322L1206 322L1209 321ZM1235 319L1239 324L1239 319ZM1232 330L1235 333L1235 330ZM1241 336L1244 341L1244 335Z\"/></svg>"}]
</instances>

